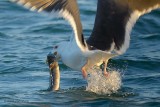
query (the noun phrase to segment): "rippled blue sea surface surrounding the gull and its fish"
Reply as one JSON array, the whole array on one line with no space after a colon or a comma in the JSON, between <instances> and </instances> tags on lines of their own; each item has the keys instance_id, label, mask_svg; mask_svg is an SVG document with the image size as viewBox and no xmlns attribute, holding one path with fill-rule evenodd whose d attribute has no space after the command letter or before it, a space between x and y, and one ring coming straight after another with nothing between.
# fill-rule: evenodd
<instances>
[{"instance_id":1,"label":"rippled blue sea surface surrounding the gull and its fish","mask_svg":"<svg viewBox=\"0 0 160 107\"><path fill-rule=\"evenodd\" d=\"M92 32L96 2L78 0L85 38ZM142 16L130 48L110 60L109 67L120 74L114 93L86 90L89 82L81 72L62 63L60 90L47 91L46 56L70 35L72 29L62 18L0 0L0 107L160 107L160 10Z\"/></svg>"}]
</instances>

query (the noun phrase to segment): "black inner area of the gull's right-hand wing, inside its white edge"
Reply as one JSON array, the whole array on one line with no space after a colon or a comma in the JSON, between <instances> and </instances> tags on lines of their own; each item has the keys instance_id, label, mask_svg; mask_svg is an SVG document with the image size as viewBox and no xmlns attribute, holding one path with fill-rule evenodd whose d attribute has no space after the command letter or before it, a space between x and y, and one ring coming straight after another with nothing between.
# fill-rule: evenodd
<instances>
[{"instance_id":1,"label":"black inner area of the gull's right-hand wing, inside its white edge","mask_svg":"<svg viewBox=\"0 0 160 107\"><path fill-rule=\"evenodd\" d=\"M130 13L127 5L120 6L114 0L98 0L94 28L87 43L103 51L120 50L125 42Z\"/></svg>"}]
</instances>

